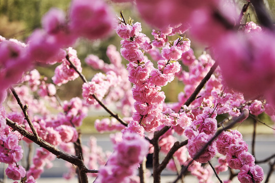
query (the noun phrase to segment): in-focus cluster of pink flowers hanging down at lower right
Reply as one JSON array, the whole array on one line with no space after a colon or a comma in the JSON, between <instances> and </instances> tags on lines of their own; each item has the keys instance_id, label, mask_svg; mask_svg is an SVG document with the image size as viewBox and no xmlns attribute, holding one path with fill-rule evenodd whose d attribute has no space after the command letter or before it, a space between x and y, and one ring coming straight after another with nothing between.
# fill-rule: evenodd
<instances>
[{"instance_id":1,"label":"in-focus cluster of pink flowers hanging down at lower right","mask_svg":"<svg viewBox=\"0 0 275 183\"><path fill-rule=\"evenodd\" d=\"M240 182L261 182L263 169L255 165L255 158L248 152L248 144L237 130L223 132L216 141L218 153L226 156L228 166L239 169Z\"/></svg>"}]
</instances>

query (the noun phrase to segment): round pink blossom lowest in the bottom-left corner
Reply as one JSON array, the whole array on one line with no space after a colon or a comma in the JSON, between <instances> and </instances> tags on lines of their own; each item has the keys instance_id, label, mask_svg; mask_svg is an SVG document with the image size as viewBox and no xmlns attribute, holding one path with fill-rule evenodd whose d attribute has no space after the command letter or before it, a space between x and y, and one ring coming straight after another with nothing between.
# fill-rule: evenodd
<instances>
[{"instance_id":1,"label":"round pink blossom lowest in the bottom-left corner","mask_svg":"<svg viewBox=\"0 0 275 183\"><path fill-rule=\"evenodd\" d=\"M8 168L5 170L7 176L13 180L19 180L26 175L26 170L15 163L9 164Z\"/></svg>"}]
</instances>

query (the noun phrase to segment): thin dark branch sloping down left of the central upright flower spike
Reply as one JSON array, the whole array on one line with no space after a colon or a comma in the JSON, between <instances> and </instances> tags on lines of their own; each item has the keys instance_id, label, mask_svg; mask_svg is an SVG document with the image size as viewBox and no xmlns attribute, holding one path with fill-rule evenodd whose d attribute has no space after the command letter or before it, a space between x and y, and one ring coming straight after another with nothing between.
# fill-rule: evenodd
<instances>
[{"instance_id":1,"label":"thin dark branch sloping down left of the central upright flower spike","mask_svg":"<svg viewBox=\"0 0 275 183\"><path fill-rule=\"evenodd\" d=\"M80 78L82 79L82 81L84 82L84 83L88 83L88 81L87 81L87 79L85 78L85 76L81 73L81 72L79 72L78 70L77 70L77 68L73 65L73 63L70 61L70 59L69 59L69 55L66 55L66 59L68 60L68 62L70 63L70 67L72 67L76 72L77 72L77 74L79 74L79 76L80 76ZM92 95L93 96L93 98L99 103L99 105L101 106L101 107L103 107L104 109L105 109L105 111L107 111L112 117L115 117L122 125L124 125L125 127L127 127L128 125L127 125L127 123L121 118L121 117L119 117L119 115L118 114L115 114L111 109L109 109L107 106L105 106L97 97L96 97L96 95Z\"/></svg>"}]
</instances>

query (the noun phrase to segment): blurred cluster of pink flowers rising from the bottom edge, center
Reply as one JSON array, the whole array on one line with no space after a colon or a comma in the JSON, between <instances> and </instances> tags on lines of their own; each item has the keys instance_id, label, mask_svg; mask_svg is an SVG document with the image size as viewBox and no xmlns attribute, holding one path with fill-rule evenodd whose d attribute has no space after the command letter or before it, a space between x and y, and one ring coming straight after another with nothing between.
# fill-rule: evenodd
<instances>
[{"instance_id":1,"label":"blurred cluster of pink flowers rising from the bottom edge, center","mask_svg":"<svg viewBox=\"0 0 275 183\"><path fill-rule=\"evenodd\" d=\"M148 153L149 142L135 133L125 133L123 140L118 142L107 165L99 169L96 182L130 182L129 176L135 175L135 170Z\"/></svg>"}]
</instances>

